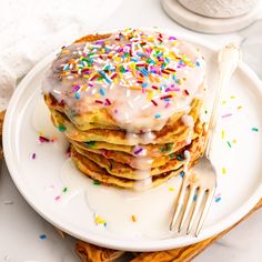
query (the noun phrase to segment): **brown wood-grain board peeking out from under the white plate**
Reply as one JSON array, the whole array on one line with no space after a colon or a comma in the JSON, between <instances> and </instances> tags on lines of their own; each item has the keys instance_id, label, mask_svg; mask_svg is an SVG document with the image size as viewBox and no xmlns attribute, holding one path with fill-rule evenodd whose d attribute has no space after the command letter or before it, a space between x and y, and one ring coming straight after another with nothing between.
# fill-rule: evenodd
<instances>
[{"instance_id":1,"label":"brown wood-grain board peeking out from under the white plate","mask_svg":"<svg viewBox=\"0 0 262 262\"><path fill-rule=\"evenodd\" d=\"M3 118L4 118L4 112L0 112L0 158L3 158L3 153L2 153ZM180 248L180 249L159 251L159 252L130 253L130 256L129 256L129 258L131 258L130 261L131 262L152 262L152 261L189 262L193 258L195 258L198 254L200 254L203 250L205 250L214 241L216 241L218 239L220 239L221 236L226 234L229 231L231 231L233 228L235 228L242 221L246 220L254 211L256 211L260 208L262 208L262 199L238 223L235 223L231 228L224 230L220 234L214 235L214 236L206 239L204 241L201 241L196 244L192 244L192 245ZM59 232L62 236L64 235L61 231L59 231ZM110 261L117 260L118 258L120 258L121 255L123 255L125 253L123 251L100 248L100 246L97 246L93 244L85 243L83 241L77 242L75 252L83 262L110 262Z\"/></svg>"}]
</instances>

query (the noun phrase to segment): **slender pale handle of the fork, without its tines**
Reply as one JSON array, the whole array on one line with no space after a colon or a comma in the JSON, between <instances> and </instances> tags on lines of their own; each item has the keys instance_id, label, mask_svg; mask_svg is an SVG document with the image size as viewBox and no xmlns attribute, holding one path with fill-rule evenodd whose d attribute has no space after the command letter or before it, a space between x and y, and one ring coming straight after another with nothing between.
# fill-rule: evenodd
<instances>
[{"instance_id":1,"label":"slender pale handle of the fork, without its tines","mask_svg":"<svg viewBox=\"0 0 262 262\"><path fill-rule=\"evenodd\" d=\"M218 88L215 90L214 103L213 103L213 108L212 108L212 112L210 117L206 140L205 140L205 145L204 145L204 149L205 149L204 153L208 159L210 159L210 152L212 149L211 145L213 142L213 137L214 137L214 131L215 131L215 125L216 125L216 120L218 120L218 109L219 109L219 103L221 100L222 89L229 85L230 79L233 72L235 71L240 59L241 59L241 52L240 52L239 46L234 42L226 44L219 52L220 78L219 78Z\"/></svg>"}]
</instances>

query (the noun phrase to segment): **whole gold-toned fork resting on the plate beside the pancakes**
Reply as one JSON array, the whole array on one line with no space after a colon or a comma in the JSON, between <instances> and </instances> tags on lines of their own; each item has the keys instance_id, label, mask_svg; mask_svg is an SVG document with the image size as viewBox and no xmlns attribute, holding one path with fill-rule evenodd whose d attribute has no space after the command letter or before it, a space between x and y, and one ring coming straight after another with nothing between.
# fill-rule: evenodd
<instances>
[{"instance_id":1,"label":"whole gold-toned fork resting on the plate beside the pancakes","mask_svg":"<svg viewBox=\"0 0 262 262\"><path fill-rule=\"evenodd\" d=\"M220 80L219 87L215 90L214 104L209 122L204 152L194 167L190 170L185 169L179 196L175 201L174 212L170 223L170 231L173 231L177 222L179 222L177 229L178 232L181 232L185 222L189 220L185 231L187 234L191 232L195 223L194 235L198 236L203 226L203 222L213 201L216 188L216 172L212 161L210 160L210 153L214 137L213 134L215 130L221 90L229 84L231 75L236 69L240 59L241 52L235 43L225 46L219 52L218 60Z\"/></svg>"}]
</instances>

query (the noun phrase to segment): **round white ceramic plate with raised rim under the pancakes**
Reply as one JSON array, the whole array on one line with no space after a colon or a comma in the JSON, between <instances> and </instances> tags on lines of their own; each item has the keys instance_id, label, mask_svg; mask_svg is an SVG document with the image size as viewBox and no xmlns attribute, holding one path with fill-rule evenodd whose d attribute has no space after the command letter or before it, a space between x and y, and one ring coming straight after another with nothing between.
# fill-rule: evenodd
<instances>
[{"instance_id":1,"label":"round white ceramic plate with raised rim under the pancakes","mask_svg":"<svg viewBox=\"0 0 262 262\"><path fill-rule=\"evenodd\" d=\"M180 38L198 46L206 60L209 110L218 78L216 48L189 36ZM71 164L62 134L52 128L42 103L41 79L53 58L50 54L41 61L19 84L3 129L4 157L11 177L28 203L50 223L94 244L157 251L212 236L239 221L260 200L262 89L244 63L223 93L212 155L218 170L216 198L201 234L194 238L168 232L180 177L145 193L128 192L95 185ZM38 131L58 140L40 143ZM94 222L95 215L100 218L99 224Z\"/></svg>"}]
</instances>

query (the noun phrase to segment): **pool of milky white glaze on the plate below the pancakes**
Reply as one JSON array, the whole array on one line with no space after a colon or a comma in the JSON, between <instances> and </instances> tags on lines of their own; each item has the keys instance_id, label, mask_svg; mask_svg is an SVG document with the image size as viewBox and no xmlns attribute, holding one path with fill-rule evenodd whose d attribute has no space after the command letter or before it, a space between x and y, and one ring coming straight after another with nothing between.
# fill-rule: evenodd
<instances>
[{"instance_id":1,"label":"pool of milky white glaze on the plate below the pancakes","mask_svg":"<svg viewBox=\"0 0 262 262\"><path fill-rule=\"evenodd\" d=\"M180 177L144 192L117 189L94 182L75 169L69 159L61 168L60 179L70 188L62 204L84 192L87 205L107 223L107 230L118 235L168 238ZM135 221L133 221L135 220Z\"/></svg>"}]
</instances>

